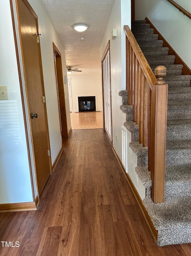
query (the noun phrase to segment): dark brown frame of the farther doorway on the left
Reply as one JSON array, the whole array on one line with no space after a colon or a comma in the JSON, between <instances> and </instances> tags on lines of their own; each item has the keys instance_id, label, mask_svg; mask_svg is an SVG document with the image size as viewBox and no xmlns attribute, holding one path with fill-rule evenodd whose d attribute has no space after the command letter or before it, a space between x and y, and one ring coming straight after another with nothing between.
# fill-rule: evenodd
<instances>
[{"instance_id":1,"label":"dark brown frame of the farther doorway on the left","mask_svg":"<svg viewBox=\"0 0 191 256\"><path fill-rule=\"evenodd\" d=\"M58 108L60 116L61 125L61 138L68 138L68 128L67 128L67 115L66 115L66 104L65 104L65 92L64 92L64 82L62 73L62 58L61 53L53 42L53 53L56 56L56 61L54 58L55 75L57 83L57 93L58 93Z\"/></svg>"}]
</instances>

